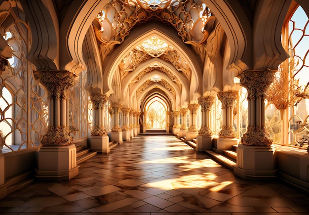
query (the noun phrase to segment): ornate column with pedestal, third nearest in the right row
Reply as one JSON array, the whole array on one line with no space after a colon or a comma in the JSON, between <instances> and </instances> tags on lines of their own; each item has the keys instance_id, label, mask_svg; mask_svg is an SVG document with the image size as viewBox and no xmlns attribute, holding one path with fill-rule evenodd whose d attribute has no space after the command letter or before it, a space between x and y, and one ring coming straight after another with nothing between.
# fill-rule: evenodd
<instances>
[{"instance_id":1,"label":"ornate column with pedestal, third nearest in the right row","mask_svg":"<svg viewBox=\"0 0 309 215\"><path fill-rule=\"evenodd\" d=\"M205 151L211 150L213 146L213 132L211 130L211 108L215 102L215 98L208 96L208 97L199 97L198 104L201 106L201 118L202 118L202 125L201 128L198 130L198 136L196 137L196 151Z\"/></svg>"}]
</instances>

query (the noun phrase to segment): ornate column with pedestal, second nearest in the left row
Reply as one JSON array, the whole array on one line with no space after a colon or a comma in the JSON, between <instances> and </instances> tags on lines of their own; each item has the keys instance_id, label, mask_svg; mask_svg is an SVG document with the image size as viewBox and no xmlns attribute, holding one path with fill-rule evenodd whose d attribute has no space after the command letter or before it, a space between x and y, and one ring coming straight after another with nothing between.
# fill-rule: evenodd
<instances>
[{"instance_id":1,"label":"ornate column with pedestal, second nearest in the left row","mask_svg":"<svg viewBox=\"0 0 309 215\"><path fill-rule=\"evenodd\" d=\"M104 128L104 107L108 100L108 96L90 94L90 100L92 103L93 128L91 130L91 137L89 137L89 147L91 151L107 154L111 151L109 147L109 137Z\"/></svg>"}]
</instances>

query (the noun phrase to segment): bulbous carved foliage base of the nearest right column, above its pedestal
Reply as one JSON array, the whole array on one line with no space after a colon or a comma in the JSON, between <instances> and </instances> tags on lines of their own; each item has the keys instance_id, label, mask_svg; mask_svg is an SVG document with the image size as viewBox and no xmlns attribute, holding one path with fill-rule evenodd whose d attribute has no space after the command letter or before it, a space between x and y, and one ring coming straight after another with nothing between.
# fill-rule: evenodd
<instances>
[{"instance_id":1,"label":"bulbous carved foliage base of the nearest right column, above its pedestal","mask_svg":"<svg viewBox=\"0 0 309 215\"><path fill-rule=\"evenodd\" d=\"M248 126L247 131L241 137L243 145L270 146L272 141L265 126Z\"/></svg>"}]
</instances>

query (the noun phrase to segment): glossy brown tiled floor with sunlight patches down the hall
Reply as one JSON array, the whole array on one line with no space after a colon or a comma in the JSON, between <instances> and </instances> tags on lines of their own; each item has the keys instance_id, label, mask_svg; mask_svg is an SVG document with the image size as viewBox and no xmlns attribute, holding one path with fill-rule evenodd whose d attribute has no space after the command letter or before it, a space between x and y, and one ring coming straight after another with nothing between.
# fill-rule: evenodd
<instances>
[{"instance_id":1,"label":"glossy brown tiled floor with sunlight patches down the hall","mask_svg":"<svg viewBox=\"0 0 309 215\"><path fill-rule=\"evenodd\" d=\"M309 195L245 181L174 136L134 137L82 163L79 175L35 182L0 200L0 214L193 215L309 213Z\"/></svg>"}]
</instances>

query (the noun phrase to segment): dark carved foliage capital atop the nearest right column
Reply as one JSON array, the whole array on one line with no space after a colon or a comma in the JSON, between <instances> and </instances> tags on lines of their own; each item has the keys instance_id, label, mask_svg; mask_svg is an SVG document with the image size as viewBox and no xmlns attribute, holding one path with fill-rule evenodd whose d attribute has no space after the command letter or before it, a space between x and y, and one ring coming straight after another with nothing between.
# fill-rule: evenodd
<instances>
[{"instance_id":1,"label":"dark carved foliage capital atop the nearest right column","mask_svg":"<svg viewBox=\"0 0 309 215\"><path fill-rule=\"evenodd\" d=\"M272 70L246 70L240 72L236 77L240 79L240 86L248 91L248 100L265 98L267 90L273 81L275 71Z\"/></svg>"}]
</instances>

